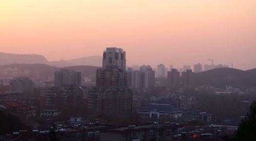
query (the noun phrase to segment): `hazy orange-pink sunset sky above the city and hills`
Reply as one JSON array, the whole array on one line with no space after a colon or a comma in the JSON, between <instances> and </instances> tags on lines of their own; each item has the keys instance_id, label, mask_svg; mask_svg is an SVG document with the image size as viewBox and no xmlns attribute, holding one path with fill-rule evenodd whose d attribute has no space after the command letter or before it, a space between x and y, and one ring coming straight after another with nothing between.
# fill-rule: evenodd
<instances>
[{"instance_id":1,"label":"hazy orange-pink sunset sky above the city and hills","mask_svg":"<svg viewBox=\"0 0 256 141\"><path fill-rule=\"evenodd\" d=\"M127 64L256 67L255 0L0 0L0 52L49 61L126 51Z\"/></svg>"}]
</instances>

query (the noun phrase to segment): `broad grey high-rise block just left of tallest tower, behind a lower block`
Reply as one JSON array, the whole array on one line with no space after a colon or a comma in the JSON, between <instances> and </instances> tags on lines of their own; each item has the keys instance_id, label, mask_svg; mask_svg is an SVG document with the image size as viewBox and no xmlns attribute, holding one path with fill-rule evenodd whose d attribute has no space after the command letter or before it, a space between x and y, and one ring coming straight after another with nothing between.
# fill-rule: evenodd
<instances>
[{"instance_id":1,"label":"broad grey high-rise block just left of tallest tower, behind a lower block","mask_svg":"<svg viewBox=\"0 0 256 141\"><path fill-rule=\"evenodd\" d=\"M60 69L54 74L54 85L81 85L81 72L73 69Z\"/></svg>"}]
</instances>

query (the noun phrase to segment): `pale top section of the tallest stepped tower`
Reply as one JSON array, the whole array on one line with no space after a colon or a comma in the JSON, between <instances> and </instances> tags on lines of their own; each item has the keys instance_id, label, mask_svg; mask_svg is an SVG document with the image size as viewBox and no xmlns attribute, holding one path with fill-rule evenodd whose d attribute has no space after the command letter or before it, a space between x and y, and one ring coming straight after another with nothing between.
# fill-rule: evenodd
<instances>
[{"instance_id":1,"label":"pale top section of the tallest stepped tower","mask_svg":"<svg viewBox=\"0 0 256 141\"><path fill-rule=\"evenodd\" d=\"M121 70L126 69L126 55L123 49L106 48L103 52L102 67L117 66Z\"/></svg>"}]
</instances>

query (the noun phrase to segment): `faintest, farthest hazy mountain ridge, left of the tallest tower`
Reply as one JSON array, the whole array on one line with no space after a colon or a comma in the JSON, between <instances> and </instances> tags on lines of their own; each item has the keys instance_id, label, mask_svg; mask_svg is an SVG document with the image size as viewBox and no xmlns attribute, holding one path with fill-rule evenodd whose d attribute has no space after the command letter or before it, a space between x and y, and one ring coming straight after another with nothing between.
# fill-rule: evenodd
<instances>
[{"instance_id":1,"label":"faintest, farthest hazy mountain ridge, left of the tallest tower","mask_svg":"<svg viewBox=\"0 0 256 141\"><path fill-rule=\"evenodd\" d=\"M65 67L72 65L92 65L92 66L101 66L102 57L101 56L89 56L76 58L71 60L60 60L60 61L48 61L46 57L36 54L9 54L9 53L0 53L0 65L8 64L48 64L51 66Z\"/></svg>"}]
</instances>

